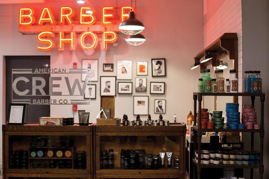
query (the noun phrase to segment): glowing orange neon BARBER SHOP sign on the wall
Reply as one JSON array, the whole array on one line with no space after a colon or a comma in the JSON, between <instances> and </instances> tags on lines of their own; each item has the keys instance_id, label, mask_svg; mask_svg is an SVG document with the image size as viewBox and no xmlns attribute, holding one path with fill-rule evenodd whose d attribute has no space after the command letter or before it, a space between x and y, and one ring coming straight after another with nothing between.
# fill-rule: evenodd
<instances>
[{"instance_id":1,"label":"glowing orange neon BARBER SHOP sign on the wall","mask_svg":"<svg viewBox=\"0 0 269 179\"><path fill-rule=\"evenodd\" d=\"M120 21L128 18L130 6L123 6L120 10ZM86 13L90 10L90 13ZM75 50L76 35L80 33L79 45L83 50L92 50L97 47L98 37L96 33L102 33L102 50L107 50L108 43L117 41L118 25L114 20L113 6L102 7L101 22L97 23L94 7L80 7L79 21L74 20L75 10L72 7L61 7L59 21L57 22L50 7L44 7L42 13L35 14L31 7L19 9L19 32L38 33L36 49L48 51L53 48L64 50L64 44L69 44L69 50ZM55 47L55 34L58 34L58 47ZM91 43L86 44L90 39Z\"/></svg>"}]
</instances>

